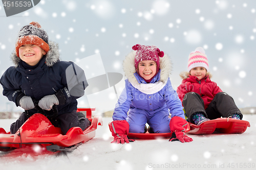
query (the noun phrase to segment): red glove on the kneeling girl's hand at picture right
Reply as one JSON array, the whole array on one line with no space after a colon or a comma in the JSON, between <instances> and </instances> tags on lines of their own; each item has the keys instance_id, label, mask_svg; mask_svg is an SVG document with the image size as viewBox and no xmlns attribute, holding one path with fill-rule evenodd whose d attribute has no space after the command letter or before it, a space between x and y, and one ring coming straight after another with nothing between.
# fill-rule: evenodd
<instances>
[{"instance_id":1,"label":"red glove on the kneeling girl's hand at picture right","mask_svg":"<svg viewBox=\"0 0 256 170\"><path fill-rule=\"evenodd\" d=\"M192 138L188 137L185 134L185 130L189 128L187 121L179 116L174 116L170 119L170 132L172 132L172 137L170 137L169 141L179 140L182 143L193 141Z\"/></svg>"}]
</instances>

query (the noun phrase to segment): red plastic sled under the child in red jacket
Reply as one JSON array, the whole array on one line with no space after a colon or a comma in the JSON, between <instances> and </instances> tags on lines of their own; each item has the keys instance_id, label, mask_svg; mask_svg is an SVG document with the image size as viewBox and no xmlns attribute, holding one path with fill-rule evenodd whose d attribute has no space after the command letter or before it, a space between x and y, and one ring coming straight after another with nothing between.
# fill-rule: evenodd
<instances>
[{"instance_id":1,"label":"red plastic sled under the child in red jacket","mask_svg":"<svg viewBox=\"0 0 256 170\"><path fill-rule=\"evenodd\" d=\"M189 134L211 134L215 130L222 133L244 133L247 127L250 127L250 123L246 120L238 120L233 118L217 118L214 120L207 120L201 125L197 126L189 122L190 131Z\"/></svg>"}]
</instances>

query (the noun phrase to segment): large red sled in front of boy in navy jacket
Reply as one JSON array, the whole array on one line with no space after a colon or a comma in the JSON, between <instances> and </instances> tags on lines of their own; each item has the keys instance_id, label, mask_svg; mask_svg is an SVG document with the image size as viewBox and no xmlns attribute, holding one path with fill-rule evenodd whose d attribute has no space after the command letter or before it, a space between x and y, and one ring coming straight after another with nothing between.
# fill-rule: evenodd
<instances>
[{"instance_id":1,"label":"large red sled in front of boy in navy jacket","mask_svg":"<svg viewBox=\"0 0 256 170\"><path fill-rule=\"evenodd\" d=\"M0 151L10 151L31 144L41 144L52 152L72 151L83 142L95 137L97 126L103 125L101 116L92 118L91 111L95 109L77 110L87 111L86 117L92 122L86 130L82 131L79 127L73 127L66 135L63 135L60 128L54 127L46 116L36 113L30 116L15 134L7 133L0 128Z\"/></svg>"}]
</instances>

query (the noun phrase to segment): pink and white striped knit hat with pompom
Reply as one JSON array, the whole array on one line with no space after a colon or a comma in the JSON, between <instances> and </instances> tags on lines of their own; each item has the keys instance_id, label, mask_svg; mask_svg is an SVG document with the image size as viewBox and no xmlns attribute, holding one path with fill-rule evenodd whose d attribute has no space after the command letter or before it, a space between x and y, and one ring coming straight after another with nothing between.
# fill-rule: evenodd
<instances>
[{"instance_id":1,"label":"pink and white striped knit hat with pompom","mask_svg":"<svg viewBox=\"0 0 256 170\"><path fill-rule=\"evenodd\" d=\"M204 67L206 70L209 69L208 59L202 47L197 47L195 52L191 52L188 56L187 70L190 71L195 67Z\"/></svg>"}]
</instances>

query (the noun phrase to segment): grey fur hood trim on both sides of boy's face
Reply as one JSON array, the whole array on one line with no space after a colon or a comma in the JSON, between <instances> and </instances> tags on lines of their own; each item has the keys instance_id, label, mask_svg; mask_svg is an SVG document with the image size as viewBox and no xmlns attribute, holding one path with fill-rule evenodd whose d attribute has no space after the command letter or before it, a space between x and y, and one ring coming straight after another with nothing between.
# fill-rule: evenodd
<instances>
[{"instance_id":1,"label":"grey fur hood trim on both sides of boy's face","mask_svg":"<svg viewBox=\"0 0 256 170\"><path fill-rule=\"evenodd\" d=\"M56 42L49 41L49 47L50 50L47 52L45 56L46 65L51 67L59 61L59 45ZM15 67L17 67L21 59L16 55L16 52L13 51L11 54L11 60L14 63Z\"/></svg>"}]
</instances>

